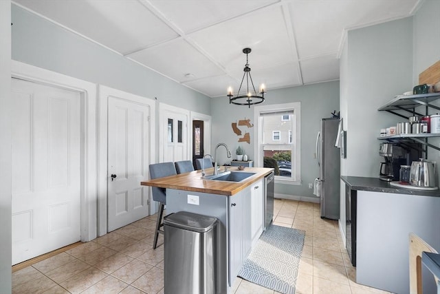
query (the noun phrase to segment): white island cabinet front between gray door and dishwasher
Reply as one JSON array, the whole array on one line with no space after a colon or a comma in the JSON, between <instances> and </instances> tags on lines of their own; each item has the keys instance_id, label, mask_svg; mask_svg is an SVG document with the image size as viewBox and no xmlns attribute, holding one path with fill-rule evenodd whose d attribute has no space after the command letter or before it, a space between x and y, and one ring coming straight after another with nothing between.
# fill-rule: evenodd
<instances>
[{"instance_id":1,"label":"white island cabinet front between gray door and dishwasher","mask_svg":"<svg viewBox=\"0 0 440 294\"><path fill-rule=\"evenodd\" d=\"M255 246L256 242L259 240L261 233L263 233L264 228L264 187L263 180L255 182L251 186L251 238L252 247Z\"/></svg>"}]
</instances>

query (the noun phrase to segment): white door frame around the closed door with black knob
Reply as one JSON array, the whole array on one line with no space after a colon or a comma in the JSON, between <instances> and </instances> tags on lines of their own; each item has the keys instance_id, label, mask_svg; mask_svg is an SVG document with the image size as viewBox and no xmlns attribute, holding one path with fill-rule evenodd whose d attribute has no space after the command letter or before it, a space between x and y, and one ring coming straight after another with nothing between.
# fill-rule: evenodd
<instances>
[{"instance_id":1,"label":"white door frame around the closed door with black knob","mask_svg":"<svg viewBox=\"0 0 440 294\"><path fill-rule=\"evenodd\" d=\"M124 98L126 101L140 103L150 107L150 154L147 154L150 164L155 163L155 101L151 98L138 96L129 92L113 89L104 85L98 85L98 236L107 234L107 164L108 164L108 96L129 96ZM147 171L149 174L149 171ZM148 189L150 199L150 211L152 214L153 201L151 199L151 189Z\"/></svg>"}]
</instances>

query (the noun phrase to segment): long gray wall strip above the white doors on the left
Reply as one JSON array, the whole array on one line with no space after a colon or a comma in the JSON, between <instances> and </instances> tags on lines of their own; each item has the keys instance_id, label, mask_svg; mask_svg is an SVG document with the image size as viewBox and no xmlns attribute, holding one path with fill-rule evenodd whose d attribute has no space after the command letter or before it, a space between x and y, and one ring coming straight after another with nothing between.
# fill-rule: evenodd
<instances>
[{"instance_id":1,"label":"long gray wall strip above the white doors on the left","mask_svg":"<svg viewBox=\"0 0 440 294\"><path fill-rule=\"evenodd\" d=\"M210 114L210 98L12 5L12 59Z\"/></svg>"}]
</instances>

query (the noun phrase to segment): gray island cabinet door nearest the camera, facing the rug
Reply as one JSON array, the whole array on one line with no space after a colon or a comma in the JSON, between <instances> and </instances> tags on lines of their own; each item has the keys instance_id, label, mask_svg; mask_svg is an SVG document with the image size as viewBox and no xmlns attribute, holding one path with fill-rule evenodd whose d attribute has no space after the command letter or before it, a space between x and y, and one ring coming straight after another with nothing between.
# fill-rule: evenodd
<instances>
[{"instance_id":1,"label":"gray island cabinet door nearest the camera, facing the rug","mask_svg":"<svg viewBox=\"0 0 440 294\"><path fill-rule=\"evenodd\" d=\"M229 285L232 286L243 264L243 191L229 197Z\"/></svg>"}]
</instances>

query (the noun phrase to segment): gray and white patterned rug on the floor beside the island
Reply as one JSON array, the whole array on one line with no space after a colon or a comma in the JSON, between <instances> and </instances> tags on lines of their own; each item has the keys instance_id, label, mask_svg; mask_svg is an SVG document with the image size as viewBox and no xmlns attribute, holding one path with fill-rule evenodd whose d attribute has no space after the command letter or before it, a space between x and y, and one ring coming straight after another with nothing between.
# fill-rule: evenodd
<instances>
[{"instance_id":1,"label":"gray and white patterned rug on the floor beside the island","mask_svg":"<svg viewBox=\"0 0 440 294\"><path fill-rule=\"evenodd\" d=\"M280 293L295 293L305 231L270 225L246 259L239 277Z\"/></svg>"}]
</instances>

